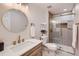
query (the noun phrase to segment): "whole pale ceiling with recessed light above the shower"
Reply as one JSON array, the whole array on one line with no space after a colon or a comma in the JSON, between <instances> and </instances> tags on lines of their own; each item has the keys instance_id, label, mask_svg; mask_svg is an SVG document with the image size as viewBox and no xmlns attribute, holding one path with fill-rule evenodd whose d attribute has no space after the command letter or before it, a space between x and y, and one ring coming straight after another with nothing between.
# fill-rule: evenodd
<instances>
[{"instance_id":1,"label":"whole pale ceiling with recessed light above the shower","mask_svg":"<svg viewBox=\"0 0 79 59\"><path fill-rule=\"evenodd\" d=\"M64 12L72 11L74 8L74 3L32 3L42 8L48 8L48 11L52 14L60 14Z\"/></svg>"}]
</instances>

